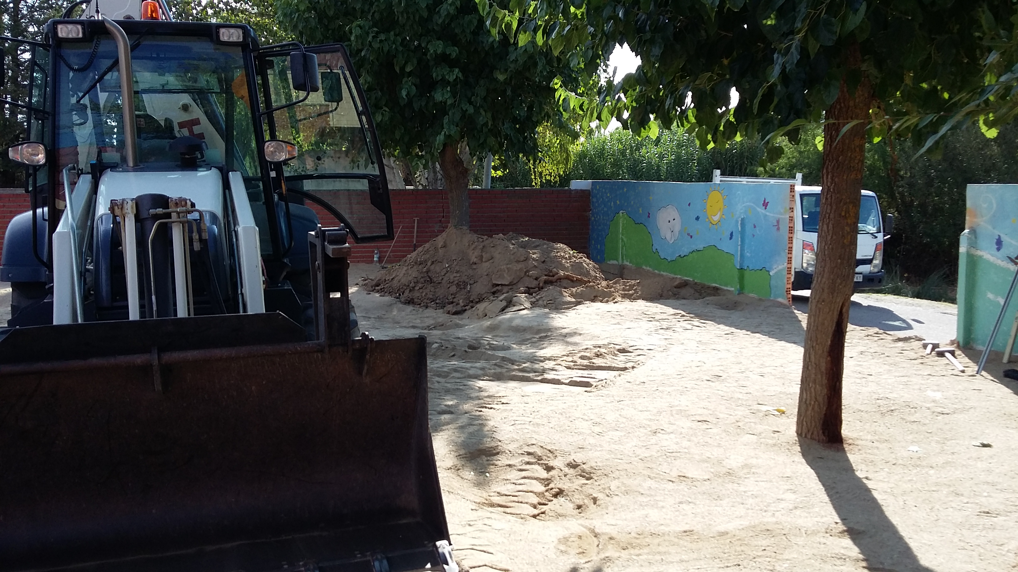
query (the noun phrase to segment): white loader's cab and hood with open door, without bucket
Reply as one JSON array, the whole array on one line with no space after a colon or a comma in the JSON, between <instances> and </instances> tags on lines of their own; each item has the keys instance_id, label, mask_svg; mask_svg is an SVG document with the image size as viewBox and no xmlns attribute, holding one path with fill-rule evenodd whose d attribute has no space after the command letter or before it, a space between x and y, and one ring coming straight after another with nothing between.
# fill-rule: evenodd
<instances>
[{"instance_id":1,"label":"white loader's cab and hood with open door, without bucket","mask_svg":"<svg viewBox=\"0 0 1018 572\"><path fill-rule=\"evenodd\" d=\"M306 322L305 237L322 218L358 242L392 238L378 137L345 50L263 48L246 25L171 21L143 5L143 17L128 2L126 19L51 20L46 42L22 44L27 140L11 157L25 159L34 208L4 241L11 326L263 310ZM140 244L145 268L131 277L118 209L192 221L164 225L191 243L178 265L188 268L154 265ZM164 258L172 233L150 235Z\"/></svg>"}]
</instances>

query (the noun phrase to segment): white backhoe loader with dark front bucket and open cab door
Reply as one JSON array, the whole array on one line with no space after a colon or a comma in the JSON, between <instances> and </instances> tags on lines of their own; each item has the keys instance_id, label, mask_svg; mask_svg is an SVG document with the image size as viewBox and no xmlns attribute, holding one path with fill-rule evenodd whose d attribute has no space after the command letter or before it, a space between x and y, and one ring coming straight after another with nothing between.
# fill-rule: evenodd
<instances>
[{"instance_id":1,"label":"white backhoe loader with dark front bucket and open cab door","mask_svg":"<svg viewBox=\"0 0 1018 572\"><path fill-rule=\"evenodd\" d=\"M0 572L457 570L427 341L350 303L349 238L393 227L342 45L163 0L2 41L32 208L0 262Z\"/></svg>"}]
</instances>

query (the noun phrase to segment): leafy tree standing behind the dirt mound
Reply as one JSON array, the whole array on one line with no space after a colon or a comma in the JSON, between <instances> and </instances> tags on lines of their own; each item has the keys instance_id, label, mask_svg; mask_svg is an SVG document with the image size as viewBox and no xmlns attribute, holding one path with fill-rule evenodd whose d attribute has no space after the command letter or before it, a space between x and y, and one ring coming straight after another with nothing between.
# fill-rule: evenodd
<instances>
[{"instance_id":1,"label":"leafy tree standing behind the dirt mound","mask_svg":"<svg viewBox=\"0 0 1018 572\"><path fill-rule=\"evenodd\" d=\"M552 83L568 76L565 59L493 37L473 0L280 0L279 10L300 40L346 45L382 147L439 163L452 226L469 226L471 157L530 153L559 113Z\"/></svg>"}]
</instances>

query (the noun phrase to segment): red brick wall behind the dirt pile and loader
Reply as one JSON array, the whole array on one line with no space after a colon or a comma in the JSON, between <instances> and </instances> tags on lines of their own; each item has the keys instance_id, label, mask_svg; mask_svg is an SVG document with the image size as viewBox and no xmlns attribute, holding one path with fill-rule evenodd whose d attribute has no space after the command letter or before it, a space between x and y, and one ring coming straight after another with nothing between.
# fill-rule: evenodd
<instances>
[{"instance_id":1,"label":"red brick wall behind the dirt pile and loader","mask_svg":"<svg viewBox=\"0 0 1018 572\"><path fill-rule=\"evenodd\" d=\"M371 263L378 248L387 264L412 251L413 219L417 218L417 246L442 233L449 225L449 201L443 189L393 189L390 191L395 241L354 245L353 263ZM313 206L308 203L308 206ZM29 210L29 195L21 189L0 189L0 248L7 223ZM316 208L322 224L338 224ZM402 228L402 230L400 230ZM531 238L562 242L587 251L590 228L590 192L568 188L470 189L470 230L485 235L517 232ZM390 248L392 249L390 253Z\"/></svg>"}]
</instances>

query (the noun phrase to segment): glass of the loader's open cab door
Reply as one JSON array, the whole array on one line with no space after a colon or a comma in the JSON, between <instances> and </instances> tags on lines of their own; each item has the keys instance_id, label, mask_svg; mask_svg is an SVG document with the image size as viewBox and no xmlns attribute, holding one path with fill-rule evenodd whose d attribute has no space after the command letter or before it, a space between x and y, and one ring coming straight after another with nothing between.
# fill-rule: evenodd
<instances>
[{"instance_id":1,"label":"glass of the loader's open cab door","mask_svg":"<svg viewBox=\"0 0 1018 572\"><path fill-rule=\"evenodd\" d=\"M381 184L380 162L367 129L366 111L340 52L317 53L321 90L306 101L274 112L271 138L297 146L284 166L288 189L303 190L340 212L360 237L385 235L386 214L372 204L370 185ZM297 101L289 57L267 58L274 107ZM272 125L270 124L270 131ZM313 205L308 205L314 208Z\"/></svg>"}]
</instances>

